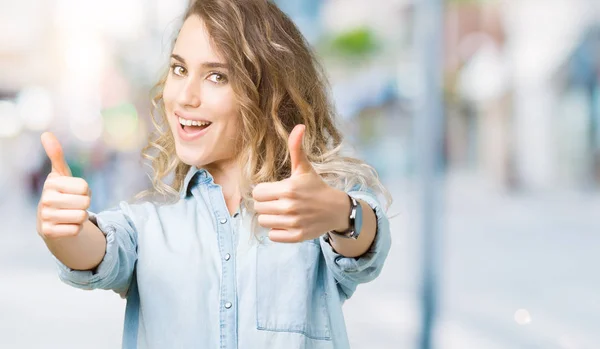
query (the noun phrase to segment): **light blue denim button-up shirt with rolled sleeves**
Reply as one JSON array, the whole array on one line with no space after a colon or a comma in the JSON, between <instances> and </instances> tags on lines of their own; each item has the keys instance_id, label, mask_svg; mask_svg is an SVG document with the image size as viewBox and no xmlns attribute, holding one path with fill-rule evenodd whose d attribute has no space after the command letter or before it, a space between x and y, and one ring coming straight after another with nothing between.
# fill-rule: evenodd
<instances>
[{"instance_id":1,"label":"light blue denim button-up shirt with rolled sleeves","mask_svg":"<svg viewBox=\"0 0 600 349\"><path fill-rule=\"evenodd\" d=\"M379 275L390 228L376 197L349 192L377 215L377 234L360 258L324 237L275 243L252 216L229 214L221 187L192 167L174 204L121 202L90 213L106 234L95 271L57 260L61 280L127 298L123 348L349 348L342 304ZM375 320L375 319L374 319Z\"/></svg>"}]
</instances>

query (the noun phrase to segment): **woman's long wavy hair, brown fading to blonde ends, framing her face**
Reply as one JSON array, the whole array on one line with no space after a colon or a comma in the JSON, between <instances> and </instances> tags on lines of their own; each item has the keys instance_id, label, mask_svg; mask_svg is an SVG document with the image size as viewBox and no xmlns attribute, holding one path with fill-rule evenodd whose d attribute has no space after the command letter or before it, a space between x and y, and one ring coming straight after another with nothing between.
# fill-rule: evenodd
<instances>
[{"instance_id":1,"label":"woman's long wavy hair, brown fading to blonde ends, framing her face","mask_svg":"<svg viewBox=\"0 0 600 349\"><path fill-rule=\"evenodd\" d=\"M341 155L342 135L327 96L327 80L308 43L294 23L265 0L193 2L184 20L200 16L214 46L230 67L230 83L240 107L239 152L242 204L253 203L252 189L261 182L290 175L288 136L306 125L303 149L316 172L344 191L368 188L392 202L373 167ZM151 162L153 188L141 193L178 198L190 169L175 152L163 104L168 71L154 86L152 123L155 132L142 150ZM172 176L171 184L164 182Z\"/></svg>"}]
</instances>

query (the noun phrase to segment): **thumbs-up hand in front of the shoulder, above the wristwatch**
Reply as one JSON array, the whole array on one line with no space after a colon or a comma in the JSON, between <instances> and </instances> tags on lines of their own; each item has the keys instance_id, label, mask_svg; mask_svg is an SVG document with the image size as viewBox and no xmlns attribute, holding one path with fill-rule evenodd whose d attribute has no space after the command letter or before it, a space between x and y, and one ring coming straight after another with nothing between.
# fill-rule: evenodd
<instances>
[{"instance_id":1,"label":"thumbs-up hand in front of the shoulder, above the wristwatch","mask_svg":"<svg viewBox=\"0 0 600 349\"><path fill-rule=\"evenodd\" d=\"M348 197L325 183L308 161L302 148L304 131L304 125L297 125L288 139L291 176L260 183L252 191L258 223L271 229L272 241L301 242L348 225Z\"/></svg>"}]
</instances>

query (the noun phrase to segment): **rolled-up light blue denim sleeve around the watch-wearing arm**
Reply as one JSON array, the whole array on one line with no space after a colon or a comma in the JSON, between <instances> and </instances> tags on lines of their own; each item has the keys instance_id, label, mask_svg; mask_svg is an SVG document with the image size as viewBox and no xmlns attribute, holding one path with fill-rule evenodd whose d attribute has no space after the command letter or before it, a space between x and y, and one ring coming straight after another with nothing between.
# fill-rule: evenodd
<instances>
[{"instance_id":1,"label":"rolled-up light blue denim sleeve around the watch-wearing arm","mask_svg":"<svg viewBox=\"0 0 600 349\"><path fill-rule=\"evenodd\" d=\"M358 284L372 281L379 276L391 247L389 220L377 197L370 191L363 190L350 191L348 194L369 204L377 218L377 230L369 250L356 258L336 253L329 244L327 235L319 239L325 262L346 299L352 296Z\"/></svg>"}]
</instances>

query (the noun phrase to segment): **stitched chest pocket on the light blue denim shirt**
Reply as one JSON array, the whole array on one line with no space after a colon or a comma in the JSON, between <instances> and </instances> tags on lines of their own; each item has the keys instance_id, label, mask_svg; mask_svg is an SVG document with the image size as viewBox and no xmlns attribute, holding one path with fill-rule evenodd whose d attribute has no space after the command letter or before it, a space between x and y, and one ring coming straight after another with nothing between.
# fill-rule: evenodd
<instances>
[{"instance_id":1,"label":"stitched chest pocket on the light blue denim shirt","mask_svg":"<svg viewBox=\"0 0 600 349\"><path fill-rule=\"evenodd\" d=\"M319 282L321 247L313 241L265 239L256 253L256 325L331 340L324 285Z\"/></svg>"}]
</instances>

